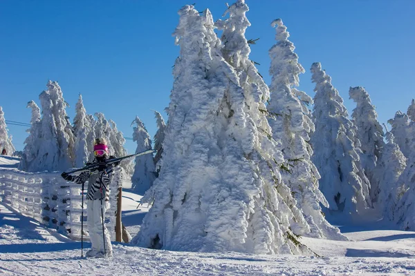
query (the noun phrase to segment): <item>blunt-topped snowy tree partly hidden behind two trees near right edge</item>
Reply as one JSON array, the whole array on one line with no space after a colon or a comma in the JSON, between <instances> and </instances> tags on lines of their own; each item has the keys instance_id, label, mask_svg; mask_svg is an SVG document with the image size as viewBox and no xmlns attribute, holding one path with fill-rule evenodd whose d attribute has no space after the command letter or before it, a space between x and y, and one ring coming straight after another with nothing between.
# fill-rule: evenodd
<instances>
[{"instance_id":1,"label":"blunt-topped snowy tree partly hidden behind two trees near right edge","mask_svg":"<svg viewBox=\"0 0 415 276\"><path fill-rule=\"evenodd\" d=\"M397 111L395 113L394 119L389 119L387 121L389 124L391 124L391 132L395 137L395 142L398 144L400 151L402 151L403 155L405 157L409 158L410 155L410 149L409 149L409 117L400 111Z\"/></svg>"}]
</instances>

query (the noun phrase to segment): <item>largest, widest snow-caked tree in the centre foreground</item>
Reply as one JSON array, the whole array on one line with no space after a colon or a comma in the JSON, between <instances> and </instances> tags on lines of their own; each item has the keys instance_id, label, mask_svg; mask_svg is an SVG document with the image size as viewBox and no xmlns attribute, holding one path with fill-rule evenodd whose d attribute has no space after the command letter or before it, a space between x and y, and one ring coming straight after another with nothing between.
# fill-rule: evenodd
<instances>
[{"instance_id":1,"label":"largest, widest snow-caked tree in the centre foreground","mask_svg":"<svg viewBox=\"0 0 415 276\"><path fill-rule=\"evenodd\" d=\"M174 65L163 166L142 199L154 203L133 243L299 253L303 247L290 230L295 199L275 168L283 157L268 139L270 127L258 108L268 89L252 83L257 97L247 113L247 91L221 55L210 11L184 6L179 14L174 35L181 54Z\"/></svg>"}]
</instances>

